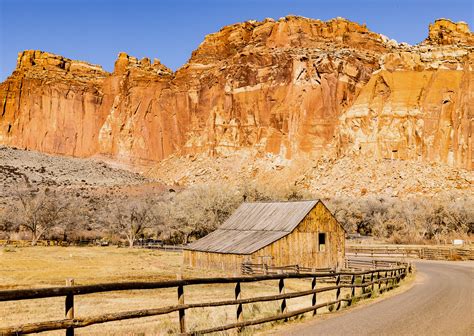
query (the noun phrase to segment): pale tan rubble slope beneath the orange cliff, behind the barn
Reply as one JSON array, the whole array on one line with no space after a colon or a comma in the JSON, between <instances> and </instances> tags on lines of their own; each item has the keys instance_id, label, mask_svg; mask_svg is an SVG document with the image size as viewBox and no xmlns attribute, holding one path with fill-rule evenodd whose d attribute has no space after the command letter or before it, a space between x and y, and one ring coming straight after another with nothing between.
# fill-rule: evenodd
<instances>
[{"instance_id":1,"label":"pale tan rubble slope beneath the orange cliff, behind the barn","mask_svg":"<svg viewBox=\"0 0 474 336\"><path fill-rule=\"evenodd\" d=\"M186 167L186 169L183 169ZM173 186L217 184L305 197L340 198L362 196L438 197L474 195L474 172L445 164L408 160L367 159L345 156L338 159L298 158L282 160L250 152L239 156L211 158L206 155L172 156L147 172L159 182Z\"/></svg>"}]
</instances>

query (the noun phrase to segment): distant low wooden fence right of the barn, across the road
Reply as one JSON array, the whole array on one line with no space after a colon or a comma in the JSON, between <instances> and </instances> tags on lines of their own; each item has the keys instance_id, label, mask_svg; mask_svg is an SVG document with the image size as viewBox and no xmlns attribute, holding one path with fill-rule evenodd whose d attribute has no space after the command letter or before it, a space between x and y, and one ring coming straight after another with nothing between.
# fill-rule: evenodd
<instances>
[{"instance_id":1,"label":"distant low wooden fence right of the barn, across the road","mask_svg":"<svg viewBox=\"0 0 474 336\"><path fill-rule=\"evenodd\" d=\"M370 258L420 258L430 260L474 260L472 247L454 246L346 246L346 256Z\"/></svg>"}]
</instances>

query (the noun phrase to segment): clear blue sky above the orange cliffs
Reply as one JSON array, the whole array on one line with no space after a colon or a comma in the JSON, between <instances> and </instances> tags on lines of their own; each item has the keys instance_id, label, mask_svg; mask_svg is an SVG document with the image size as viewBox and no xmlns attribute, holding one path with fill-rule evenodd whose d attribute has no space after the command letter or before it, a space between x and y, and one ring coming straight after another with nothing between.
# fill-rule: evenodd
<instances>
[{"instance_id":1,"label":"clear blue sky above the orange cliffs","mask_svg":"<svg viewBox=\"0 0 474 336\"><path fill-rule=\"evenodd\" d=\"M469 0L0 0L0 80L17 53L40 49L111 71L120 51L183 65L206 34L246 20L288 14L365 23L399 42L416 44L436 18L473 26Z\"/></svg>"}]
</instances>

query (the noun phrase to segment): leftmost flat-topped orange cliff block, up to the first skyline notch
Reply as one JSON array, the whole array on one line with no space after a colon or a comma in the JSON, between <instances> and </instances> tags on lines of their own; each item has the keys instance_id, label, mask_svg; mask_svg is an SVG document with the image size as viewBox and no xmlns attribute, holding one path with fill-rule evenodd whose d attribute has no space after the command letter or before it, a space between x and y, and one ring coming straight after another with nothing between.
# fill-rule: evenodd
<instances>
[{"instance_id":1,"label":"leftmost flat-topped orange cliff block, up to the first skyline notch","mask_svg":"<svg viewBox=\"0 0 474 336\"><path fill-rule=\"evenodd\" d=\"M89 156L98 149L99 66L61 56L25 51L0 86L0 143L40 151Z\"/></svg>"}]
</instances>

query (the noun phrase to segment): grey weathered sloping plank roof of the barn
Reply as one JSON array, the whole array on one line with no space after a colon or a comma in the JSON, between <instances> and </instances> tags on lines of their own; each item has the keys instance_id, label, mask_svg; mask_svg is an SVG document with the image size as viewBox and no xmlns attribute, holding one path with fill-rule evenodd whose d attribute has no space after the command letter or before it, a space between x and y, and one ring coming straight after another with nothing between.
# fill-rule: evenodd
<instances>
[{"instance_id":1,"label":"grey weathered sloping plank roof of the barn","mask_svg":"<svg viewBox=\"0 0 474 336\"><path fill-rule=\"evenodd\" d=\"M214 232L187 250L251 254L291 233L318 200L243 203Z\"/></svg>"}]
</instances>

